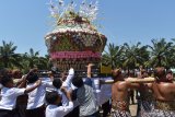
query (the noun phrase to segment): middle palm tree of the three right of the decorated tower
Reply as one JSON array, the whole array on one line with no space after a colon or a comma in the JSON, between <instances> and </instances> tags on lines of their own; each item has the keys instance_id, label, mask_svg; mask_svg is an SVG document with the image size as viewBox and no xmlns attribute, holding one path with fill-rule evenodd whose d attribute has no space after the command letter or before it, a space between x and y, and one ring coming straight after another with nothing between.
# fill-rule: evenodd
<instances>
[{"instance_id":1,"label":"middle palm tree of the three right of the decorated tower","mask_svg":"<svg viewBox=\"0 0 175 117\"><path fill-rule=\"evenodd\" d=\"M147 46L141 46L141 43L129 46L127 43L124 44L124 68L136 69L139 66L144 66L145 61L149 60L149 51Z\"/></svg>"}]
</instances>

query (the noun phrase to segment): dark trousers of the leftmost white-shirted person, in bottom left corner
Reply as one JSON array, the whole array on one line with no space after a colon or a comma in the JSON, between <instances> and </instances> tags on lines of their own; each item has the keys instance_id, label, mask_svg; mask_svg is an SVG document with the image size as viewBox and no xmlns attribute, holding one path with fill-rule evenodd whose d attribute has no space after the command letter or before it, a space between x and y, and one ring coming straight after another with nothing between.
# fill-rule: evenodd
<instances>
[{"instance_id":1,"label":"dark trousers of the leftmost white-shirted person, in bottom left corner","mask_svg":"<svg viewBox=\"0 0 175 117\"><path fill-rule=\"evenodd\" d=\"M0 109L0 117L16 117L15 110Z\"/></svg>"}]
</instances>

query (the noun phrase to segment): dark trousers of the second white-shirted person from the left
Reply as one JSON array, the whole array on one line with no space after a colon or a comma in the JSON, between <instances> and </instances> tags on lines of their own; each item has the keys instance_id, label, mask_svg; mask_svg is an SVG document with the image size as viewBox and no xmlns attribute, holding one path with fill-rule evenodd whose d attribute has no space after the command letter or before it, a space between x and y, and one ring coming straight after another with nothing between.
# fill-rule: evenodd
<instances>
[{"instance_id":1,"label":"dark trousers of the second white-shirted person from the left","mask_svg":"<svg viewBox=\"0 0 175 117\"><path fill-rule=\"evenodd\" d=\"M45 106L35 108L35 109L27 109L26 117L45 117Z\"/></svg>"}]
</instances>

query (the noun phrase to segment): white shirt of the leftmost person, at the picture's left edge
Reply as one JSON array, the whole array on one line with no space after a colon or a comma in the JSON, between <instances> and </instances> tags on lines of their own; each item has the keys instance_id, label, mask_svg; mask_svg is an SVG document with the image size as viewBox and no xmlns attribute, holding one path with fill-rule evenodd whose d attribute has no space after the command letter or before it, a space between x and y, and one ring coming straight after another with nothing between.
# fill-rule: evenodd
<instances>
[{"instance_id":1,"label":"white shirt of the leftmost person, at the picture's left edge","mask_svg":"<svg viewBox=\"0 0 175 117\"><path fill-rule=\"evenodd\" d=\"M25 89L19 87L3 87L1 90L0 109L12 110L15 108L18 96L24 94Z\"/></svg>"}]
</instances>

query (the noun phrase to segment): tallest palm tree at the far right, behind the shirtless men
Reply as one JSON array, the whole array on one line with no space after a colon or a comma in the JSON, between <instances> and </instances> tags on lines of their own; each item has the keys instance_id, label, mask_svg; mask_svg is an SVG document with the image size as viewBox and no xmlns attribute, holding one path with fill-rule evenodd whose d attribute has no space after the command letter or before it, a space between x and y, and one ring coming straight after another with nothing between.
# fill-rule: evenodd
<instances>
[{"instance_id":1,"label":"tallest palm tree at the far right, behind the shirtless men","mask_svg":"<svg viewBox=\"0 0 175 117\"><path fill-rule=\"evenodd\" d=\"M172 57L174 57L174 46L172 42L166 43L165 38L152 39L151 60L150 65L153 67L167 67L172 63Z\"/></svg>"}]
</instances>

